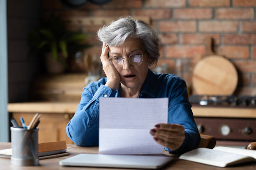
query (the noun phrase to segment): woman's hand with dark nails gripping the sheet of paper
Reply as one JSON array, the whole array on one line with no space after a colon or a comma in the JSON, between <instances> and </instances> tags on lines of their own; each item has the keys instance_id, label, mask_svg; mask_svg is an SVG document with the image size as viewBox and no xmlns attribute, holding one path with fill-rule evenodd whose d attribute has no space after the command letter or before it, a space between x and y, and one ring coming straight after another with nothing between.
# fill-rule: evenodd
<instances>
[{"instance_id":1,"label":"woman's hand with dark nails gripping the sheet of paper","mask_svg":"<svg viewBox=\"0 0 256 170\"><path fill-rule=\"evenodd\" d=\"M155 127L149 133L154 137L156 143L170 150L176 150L182 145L185 139L185 131L182 125L160 123Z\"/></svg>"}]
</instances>

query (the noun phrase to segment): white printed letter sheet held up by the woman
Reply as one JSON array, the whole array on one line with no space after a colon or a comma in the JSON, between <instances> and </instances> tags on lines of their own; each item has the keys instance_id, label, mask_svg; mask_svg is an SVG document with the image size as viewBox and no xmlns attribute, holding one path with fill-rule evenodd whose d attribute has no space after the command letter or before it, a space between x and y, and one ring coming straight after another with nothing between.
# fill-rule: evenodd
<instances>
[{"instance_id":1,"label":"white printed letter sheet held up by the woman","mask_svg":"<svg viewBox=\"0 0 256 170\"><path fill-rule=\"evenodd\" d=\"M164 147L150 130L168 122L168 98L100 98L99 153L154 154Z\"/></svg>"}]
</instances>

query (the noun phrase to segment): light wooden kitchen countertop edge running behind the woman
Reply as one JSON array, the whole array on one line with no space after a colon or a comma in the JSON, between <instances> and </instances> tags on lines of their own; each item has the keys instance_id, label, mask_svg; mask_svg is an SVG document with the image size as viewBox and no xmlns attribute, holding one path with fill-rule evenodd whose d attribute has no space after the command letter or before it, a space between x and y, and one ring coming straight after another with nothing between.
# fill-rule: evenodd
<instances>
[{"instance_id":1,"label":"light wooden kitchen countertop edge running behind the woman","mask_svg":"<svg viewBox=\"0 0 256 170\"><path fill-rule=\"evenodd\" d=\"M8 112L73 113L79 102L9 103ZM192 106L195 117L256 118L256 108Z\"/></svg>"}]
</instances>

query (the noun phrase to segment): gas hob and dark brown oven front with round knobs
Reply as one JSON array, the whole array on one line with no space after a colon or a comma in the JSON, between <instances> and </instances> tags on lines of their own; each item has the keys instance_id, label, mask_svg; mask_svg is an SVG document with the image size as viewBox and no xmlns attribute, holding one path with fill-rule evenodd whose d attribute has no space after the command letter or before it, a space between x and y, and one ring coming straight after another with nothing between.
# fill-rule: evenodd
<instances>
[{"instance_id":1,"label":"gas hob and dark brown oven front with round knobs","mask_svg":"<svg viewBox=\"0 0 256 170\"><path fill-rule=\"evenodd\" d=\"M249 143L256 141L256 118L253 118L256 113L255 96L190 95L189 101L192 104L192 108L202 107L211 109L214 112L218 108L225 108L226 111L223 111L223 115L228 114L228 117L215 117L212 115L195 116L195 122L200 134L214 136L217 140L216 145L244 148ZM241 115L245 111L253 110L251 112L253 115L251 117L241 116L243 117L241 118L237 114L233 114L234 116L232 117L234 109L239 110ZM208 111L210 112L210 110Z\"/></svg>"}]
</instances>

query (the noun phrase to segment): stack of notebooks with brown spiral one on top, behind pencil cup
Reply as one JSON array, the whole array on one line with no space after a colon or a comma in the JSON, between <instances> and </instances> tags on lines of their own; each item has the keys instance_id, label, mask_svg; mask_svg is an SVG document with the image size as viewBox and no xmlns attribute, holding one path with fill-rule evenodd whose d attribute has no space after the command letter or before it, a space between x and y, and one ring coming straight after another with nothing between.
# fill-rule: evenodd
<instances>
[{"instance_id":1,"label":"stack of notebooks with brown spiral one on top, behind pencil cup","mask_svg":"<svg viewBox=\"0 0 256 170\"><path fill-rule=\"evenodd\" d=\"M67 153L66 141L57 141L38 144L39 159L54 158L69 155ZM10 158L12 156L12 148L0 150L0 158Z\"/></svg>"}]
</instances>

